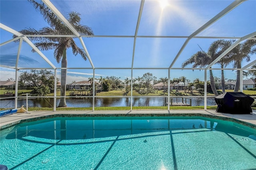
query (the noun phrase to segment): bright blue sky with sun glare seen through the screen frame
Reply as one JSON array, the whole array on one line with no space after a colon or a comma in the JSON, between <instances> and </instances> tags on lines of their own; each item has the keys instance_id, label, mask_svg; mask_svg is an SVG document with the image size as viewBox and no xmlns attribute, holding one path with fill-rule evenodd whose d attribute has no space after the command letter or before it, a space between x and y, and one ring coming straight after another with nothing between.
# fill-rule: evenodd
<instances>
[{"instance_id":1,"label":"bright blue sky with sun glare seen through the screen frame","mask_svg":"<svg viewBox=\"0 0 256 170\"><path fill-rule=\"evenodd\" d=\"M66 17L68 12L76 11L81 14L81 24L92 28L97 36L134 36L137 24L140 1L138 0L52 0L54 6ZM166 1L168 5L161 7L158 0L146 0L138 29L138 36L190 36L194 31L208 22L216 14L231 4L231 0L180 0ZM1 0L0 22L16 31L25 28L39 29L48 24L26 0ZM243 2L220 20L212 24L198 36L242 37L256 30L256 1ZM1 29L0 42L12 39L12 34ZM134 38L83 38L94 66L99 67L131 67ZM169 67L177 55L186 38L137 38L134 53L134 68ZM173 67L181 64L191 55L200 51L200 47L207 51L209 45L217 39L194 38L185 47L184 51ZM75 40L82 48L80 41ZM199 46L200 47L199 47ZM49 67L38 55L31 52L31 47L22 43L19 67ZM6 62L6 56L14 56L18 51L18 43L9 43L0 47L1 63ZM42 53L56 66L61 67L53 57L53 50ZM27 58L26 58L27 57ZM11 57L10 57L11 58ZM11 61L9 58L8 61ZM30 59L31 62L27 62ZM67 51L68 67L91 68L90 62L84 61L81 56L74 56L71 50ZM251 57L251 61L256 55ZM245 61L242 66L246 65ZM10 63L14 66L15 63ZM188 66L191 67L191 66ZM214 65L214 68L220 68ZM232 68L228 65L227 68ZM24 70L23 70L24 71ZM59 73L60 70L58 70ZM22 72L20 70L19 72ZM144 73L153 73L158 79L168 77L168 70L134 69L133 77L142 77ZM0 67L0 80L15 77L14 70ZM68 69L68 83L81 81L92 77L92 69ZM131 77L130 69L96 69L96 78L99 76L116 76L120 79ZM235 71L225 71L226 78L235 79ZM171 79L186 76L193 81L196 78L204 79L204 71L171 70ZM214 71L214 76L220 77L220 70ZM209 76L208 76L209 77Z\"/></svg>"}]
</instances>

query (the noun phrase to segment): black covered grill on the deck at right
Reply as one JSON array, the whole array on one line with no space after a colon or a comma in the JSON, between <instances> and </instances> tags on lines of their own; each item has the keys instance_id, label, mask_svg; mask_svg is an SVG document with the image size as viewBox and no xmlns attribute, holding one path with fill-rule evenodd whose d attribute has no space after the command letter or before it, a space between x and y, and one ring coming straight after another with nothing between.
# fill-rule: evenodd
<instances>
[{"instance_id":1,"label":"black covered grill on the deck at right","mask_svg":"<svg viewBox=\"0 0 256 170\"><path fill-rule=\"evenodd\" d=\"M254 99L242 92L224 92L215 97L216 112L231 114L249 114Z\"/></svg>"}]
</instances>

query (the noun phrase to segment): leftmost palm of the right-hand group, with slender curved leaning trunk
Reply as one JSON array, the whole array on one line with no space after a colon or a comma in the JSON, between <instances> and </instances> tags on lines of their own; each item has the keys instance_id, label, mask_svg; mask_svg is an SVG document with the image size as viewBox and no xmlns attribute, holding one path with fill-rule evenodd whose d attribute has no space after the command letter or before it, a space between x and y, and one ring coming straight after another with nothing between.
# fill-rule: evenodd
<instances>
[{"instance_id":1,"label":"leftmost palm of the right-hand group, with slender curved leaning trunk","mask_svg":"<svg viewBox=\"0 0 256 170\"><path fill-rule=\"evenodd\" d=\"M181 67L184 68L189 64L193 64L192 68L197 68L197 67L203 68L209 65L210 63L212 63L212 61L214 61L214 59L216 59L224 50L224 48L222 48L223 44L219 43L218 41L219 40L212 42L207 53L205 51L197 51L189 59L184 61ZM209 72L210 72L210 84L212 87L212 91L215 96L218 96L218 92L214 84L214 77L212 74L212 70L210 69Z\"/></svg>"}]
</instances>

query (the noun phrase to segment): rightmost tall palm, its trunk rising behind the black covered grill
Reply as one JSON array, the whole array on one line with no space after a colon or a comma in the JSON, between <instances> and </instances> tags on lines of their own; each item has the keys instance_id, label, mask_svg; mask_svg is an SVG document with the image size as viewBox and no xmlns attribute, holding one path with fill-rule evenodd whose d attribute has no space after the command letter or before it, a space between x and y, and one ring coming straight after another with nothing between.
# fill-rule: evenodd
<instances>
[{"instance_id":1,"label":"rightmost tall palm, its trunk rising behind the black covered grill","mask_svg":"<svg viewBox=\"0 0 256 170\"><path fill-rule=\"evenodd\" d=\"M234 47L229 55L233 61L233 68L237 68L236 70L236 84L234 87L234 91L238 91L240 87L240 70L242 67L242 61L246 59L246 61L250 61L250 55L256 53L256 40L246 40L243 43L239 43Z\"/></svg>"}]
</instances>

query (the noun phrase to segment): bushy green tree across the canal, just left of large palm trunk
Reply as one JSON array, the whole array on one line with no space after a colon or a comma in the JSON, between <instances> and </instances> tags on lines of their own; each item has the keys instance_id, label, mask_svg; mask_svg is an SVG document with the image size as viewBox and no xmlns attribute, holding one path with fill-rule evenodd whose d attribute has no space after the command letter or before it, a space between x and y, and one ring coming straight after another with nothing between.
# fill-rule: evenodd
<instances>
[{"instance_id":1,"label":"bushy green tree across the canal, just left of large palm trunk","mask_svg":"<svg viewBox=\"0 0 256 170\"><path fill-rule=\"evenodd\" d=\"M25 71L19 76L19 84L24 86L26 83L32 85L34 93L38 96L45 96L54 91L54 74L46 69Z\"/></svg>"}]
</instances>

